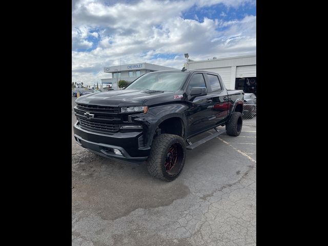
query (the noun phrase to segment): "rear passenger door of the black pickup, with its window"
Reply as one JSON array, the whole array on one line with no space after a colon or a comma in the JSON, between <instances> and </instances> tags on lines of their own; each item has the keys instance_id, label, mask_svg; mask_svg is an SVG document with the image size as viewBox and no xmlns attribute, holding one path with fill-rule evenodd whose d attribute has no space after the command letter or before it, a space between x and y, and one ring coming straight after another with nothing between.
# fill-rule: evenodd
<instances>
[{"instance_id":1,"label":"rear passenger door of the black pickup, with its window","mask_svg":"<svg viewBox=\"0 0 328 246\"><path fill-rule=\"evenodd\" d=\"M222 85L222 79L217 74L206 74L207 85L213 100L213 127L224 122L228 117L228 91Z\"/></svg>"}]
</instances>

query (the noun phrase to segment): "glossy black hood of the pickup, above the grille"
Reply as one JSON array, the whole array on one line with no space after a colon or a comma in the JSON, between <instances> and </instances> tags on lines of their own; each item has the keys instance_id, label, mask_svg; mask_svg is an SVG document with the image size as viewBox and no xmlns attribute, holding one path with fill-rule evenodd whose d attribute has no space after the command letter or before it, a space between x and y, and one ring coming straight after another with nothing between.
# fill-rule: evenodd
<instances>
[{"instance_id":1,"label":"glossy black hood of the pickup, above the grille","mask_svg":"<svg viewBox=\"0 0 328 246\"><path fill-rule=\"evenodd\" d=\"M81 96L75 102L112 107L143 106L147 99L166 97L173 94L174 92L149 91L147 93L147 91L139 90L112 90Z\"/></svg>"}]
</instances>

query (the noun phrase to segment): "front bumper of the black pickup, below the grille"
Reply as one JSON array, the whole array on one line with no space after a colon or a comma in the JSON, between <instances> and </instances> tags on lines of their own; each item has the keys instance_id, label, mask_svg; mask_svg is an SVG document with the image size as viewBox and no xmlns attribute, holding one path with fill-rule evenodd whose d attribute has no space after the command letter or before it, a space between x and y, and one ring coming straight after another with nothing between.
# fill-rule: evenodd
<instances>
[{"instance_id":1,"label":"front bumper of the black pickup, below the grille","mask_svg":"<svg viewBox=\"0 0 328 246\"><path fill-rule=\"evenodd\" d=\"M147 160L150 152L150 148L139 149L138 138L142 132L97 133L81 128L78 122L73 130L78 145L107 158L140 163ZM122 155L115 154L114 149Z\"/></svg>"}]
</instances>

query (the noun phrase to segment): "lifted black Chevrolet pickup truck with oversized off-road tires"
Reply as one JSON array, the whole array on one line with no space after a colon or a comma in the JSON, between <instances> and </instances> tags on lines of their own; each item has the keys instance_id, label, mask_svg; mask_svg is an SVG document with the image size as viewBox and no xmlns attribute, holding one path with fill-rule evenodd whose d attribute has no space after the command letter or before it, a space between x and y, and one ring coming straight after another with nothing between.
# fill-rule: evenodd
<instances>
[{"instance_id":1,"label":"lifted black Chevrolet pickup truck with oversized off-road tires","mask_svg":"<svg viewBox=\"0 0 328 246\"><path fill-rule=\"evenodd\" d=\"M242 128L243 91L227 90L219 74L200 70L147 73L124 90L93 93L76 99L76 142L101 156L147 161L162 180L181 172L187 150ZM218 131L218 126L226 130ZM216 132L192 143L202 132Z\"/></svg>"}]
</instances>

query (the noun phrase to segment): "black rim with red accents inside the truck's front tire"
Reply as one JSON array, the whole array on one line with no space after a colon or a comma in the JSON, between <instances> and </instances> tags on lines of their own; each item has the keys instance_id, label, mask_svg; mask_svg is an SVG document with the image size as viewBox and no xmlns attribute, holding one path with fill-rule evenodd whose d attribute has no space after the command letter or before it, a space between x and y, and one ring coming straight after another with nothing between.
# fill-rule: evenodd
<instances>
[{"instance_id":1,"label":"black rim with red accents inside the truck's front tire","mask_svg":"<svg viewBox=\"0 0 328 246\"><path fill-rule=\"evenodd\" d=\"M182 168L184 153L183 148L177 142L170 146L166 157L164 167L170 176L178 174Z\"/></svg>"}]
</instances>

